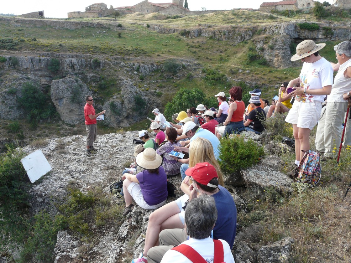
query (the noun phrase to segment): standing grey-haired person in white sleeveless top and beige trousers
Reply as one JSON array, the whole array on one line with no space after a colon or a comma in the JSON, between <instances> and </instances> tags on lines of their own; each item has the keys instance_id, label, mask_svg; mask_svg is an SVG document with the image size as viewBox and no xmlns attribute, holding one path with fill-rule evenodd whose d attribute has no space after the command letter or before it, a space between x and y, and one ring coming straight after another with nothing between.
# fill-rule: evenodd
<instances>
[{"instance_id":1,"label":"standing grey-haired person in white sleeveless top and beige trousers","mask_svg":"<svg viewBox=\"0 0 351 263\"><path fill-rule=\"evenodd\" d=\"M325 112L319 119L316 133L316 149L324 152L321 161L336 159L336 147L340 145L341 124L347 109L347 100L351 97L351 42L343 41L334 47L338 63L331 63L333 70L338 70L330 95L327 96ZM345 123L344 146L351 145L351 126Z\"/></svg>"}]
</instances>

